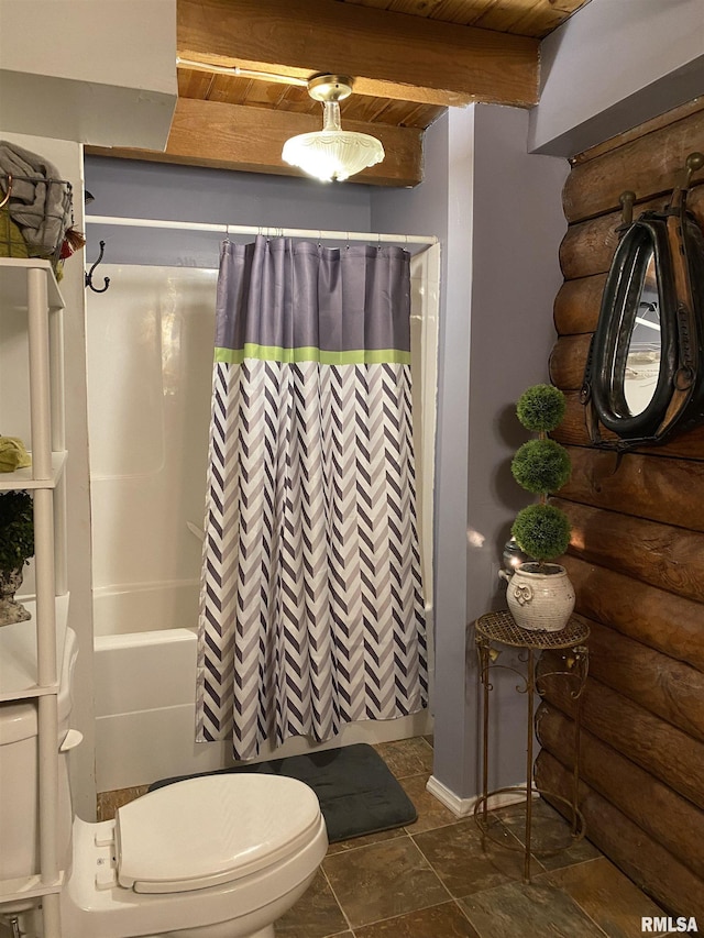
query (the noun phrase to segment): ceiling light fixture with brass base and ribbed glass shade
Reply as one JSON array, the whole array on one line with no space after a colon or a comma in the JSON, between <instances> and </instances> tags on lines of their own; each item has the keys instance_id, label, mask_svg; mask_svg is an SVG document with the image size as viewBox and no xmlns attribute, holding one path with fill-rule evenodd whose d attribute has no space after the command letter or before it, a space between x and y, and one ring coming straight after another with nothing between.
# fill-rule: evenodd
<instances>
[{"instance_id":1,"label":"ceiling light fixture with brass base and ribbed glass shade","mask_svg":"<svg viewBox=\"0 0 704 938\"><path fill-rule=\"evenodd\" d=\"M340 101L352 93L352 79L342 75L319 75L308 81L308 93L322 102L322 130L292 136L282 158L324 183L342 181L384 159L382 142L367 133L343 131Z\"/></svg>"}]
</instances>

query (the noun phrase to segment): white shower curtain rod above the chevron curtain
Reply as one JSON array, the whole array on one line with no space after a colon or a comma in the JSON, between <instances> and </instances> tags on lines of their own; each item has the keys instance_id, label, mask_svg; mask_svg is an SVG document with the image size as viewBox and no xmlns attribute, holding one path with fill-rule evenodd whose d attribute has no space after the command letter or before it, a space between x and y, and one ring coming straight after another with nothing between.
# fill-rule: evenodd
<instances>
[{"instance_id":1,"label":"white shower curtain rod above the chevron curtain","mask_svg":"<svg viewBox=\"0 0 704 938\"><path fill-rule=\"evenodd\" d=\"M268 238L310 238L318 241L376 241L380 244L437 244L435 234L380 234L378 232L324 231L318 228L274 228L252 224L209 224L199 221L166 221L151 218L119 218L87 214L86 224L125 225L128 228L169 228L180 231L216 231L221 234L264 234Z\"/></svg>"}]
</instances>

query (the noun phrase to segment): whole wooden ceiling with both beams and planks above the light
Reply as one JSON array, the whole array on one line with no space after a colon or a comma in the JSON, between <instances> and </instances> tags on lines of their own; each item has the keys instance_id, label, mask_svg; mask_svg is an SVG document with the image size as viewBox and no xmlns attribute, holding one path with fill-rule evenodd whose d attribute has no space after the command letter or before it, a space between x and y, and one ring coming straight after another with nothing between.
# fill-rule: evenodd
<instances>
[{"instance_id":1,"label":"whole wooden ceiling with both beams and planks above the light","mask_svg":"<svg viewBox=\"0 0 704 938\"><path fill-rule=\"evenodd\" d=\"M538 101L539 42L588 0L178 0L182 59L309 79L349 75L342 126L386 158L350 181L415 186L422 134L448 107ZM88 153L301 175L289 136L321 128L305 87L179 65L166 151Z\"/></svg>"}]
</instances>

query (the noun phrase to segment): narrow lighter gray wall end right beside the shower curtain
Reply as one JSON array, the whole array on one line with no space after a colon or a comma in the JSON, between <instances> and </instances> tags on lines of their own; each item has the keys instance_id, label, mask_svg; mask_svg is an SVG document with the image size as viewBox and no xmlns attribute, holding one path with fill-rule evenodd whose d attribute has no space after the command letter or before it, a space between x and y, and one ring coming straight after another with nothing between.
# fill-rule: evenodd
<instances>
[{"instance_id":1,"label":"narrow lighter gray wall end right beside the shower curtain","mask_svg":"<svg viewBox=\"0 0 704 938\"><path fill-rule=\"evenodd\" d=\"M425 179L411 191L375 195L372 221L405 224L441 239L435 519L435 779L449 794L470 792L474 761L466 685L466 473L470 434L470 308L474 111L449 111L426 133Z\"/></svg>"}]
</instances>

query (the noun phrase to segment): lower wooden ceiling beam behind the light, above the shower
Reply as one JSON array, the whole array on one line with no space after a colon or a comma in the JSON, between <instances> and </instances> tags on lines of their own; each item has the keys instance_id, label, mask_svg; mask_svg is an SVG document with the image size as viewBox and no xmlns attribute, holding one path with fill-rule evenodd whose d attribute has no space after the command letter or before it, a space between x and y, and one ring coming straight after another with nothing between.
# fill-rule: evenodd
<instances>
[{"instance_id":1,"label":"lower wooden ceiling beam behind the light, above the shower","mask_svg":"<svg viewBox=\"0 0 704 938\"><path fill-rule=\"evenodd\" d=\"M179 98L165 152L87 146L86 153L309 178L283 162L282 147L289 136L321 126L322 112L314 117ZM349 181L399 187L421 181L421 130L344 120L343 128L371 133L382 141L386 151L383 163L364 169Z\"/></svg>"}]
</instances>

